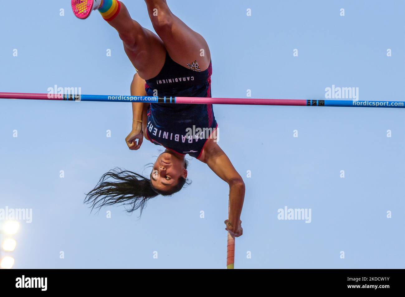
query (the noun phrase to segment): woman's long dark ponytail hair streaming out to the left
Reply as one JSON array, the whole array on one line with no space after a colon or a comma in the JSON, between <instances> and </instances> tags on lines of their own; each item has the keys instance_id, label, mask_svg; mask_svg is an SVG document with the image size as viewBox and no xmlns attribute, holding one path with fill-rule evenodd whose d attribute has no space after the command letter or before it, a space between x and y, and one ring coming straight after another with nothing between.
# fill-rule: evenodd
<instances>
[{"instance_id":1,"label":"woman's long dark ponytail hair streaming out to the left","mask_svg":"<svg viewBox=\"0 0 405 297\"><path fill-rule=\"evenodd\" d=\"M184 160L184 168L187 169L188 162ZM179 177L179 182L170 191L162 191L154 188L150 179L121 168L114 168L104 173L98 181L96 187L86 194L85 204L90 204L92 210L100 209L102 206L113 204L129 205L126 208L128 213L140 209L140 215L150 198L159 194L171 196L179 192L184 184L190 184L188 179Z\"/></svg>"}]
</instances>

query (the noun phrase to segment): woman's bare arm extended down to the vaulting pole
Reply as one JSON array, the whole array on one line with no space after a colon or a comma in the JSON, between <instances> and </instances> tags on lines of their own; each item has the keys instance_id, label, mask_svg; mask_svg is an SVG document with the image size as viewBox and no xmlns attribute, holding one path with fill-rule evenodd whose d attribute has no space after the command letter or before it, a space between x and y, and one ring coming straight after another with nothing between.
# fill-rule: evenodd
<instances>
[{"instance_id":1,"label":"woman's bare arm extended down to the vaulting pole","mask_svg":"<svg viewBox=\"0 0 405 297\"><path fill-rule=\"evenodd\" d=\"M208 141L209 143L204 148L204 157L199 160L207 163L216 175L228 183L230 212L229 221L226 220L225 224L227 225L227 230L233 232L238 237L243 233L240 218L243 200L245 199L245 183L220 146L212 139Z\"/></svg>"}]
</instances>

